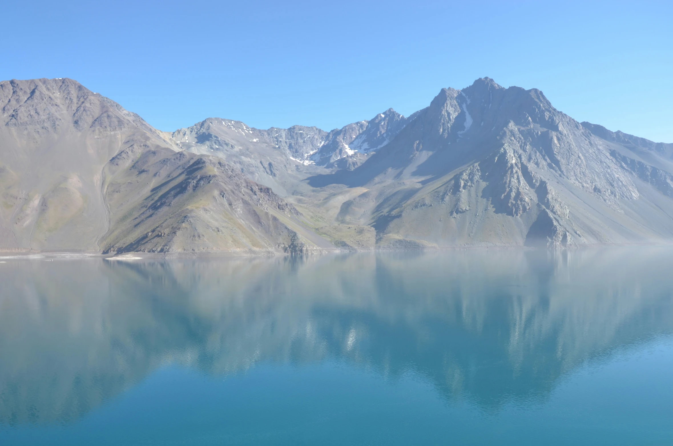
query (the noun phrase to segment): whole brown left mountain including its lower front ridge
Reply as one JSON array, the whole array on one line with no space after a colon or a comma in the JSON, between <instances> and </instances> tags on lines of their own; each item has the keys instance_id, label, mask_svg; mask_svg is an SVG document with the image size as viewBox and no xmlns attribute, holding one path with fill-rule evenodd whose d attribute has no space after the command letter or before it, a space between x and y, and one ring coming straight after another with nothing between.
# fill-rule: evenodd
<instances>
[{"instance_id":1,"label":"whole brown left mountain including its lower front ridge","mask_svg":"<svg viewBox=\"0 0 673 446\"><path fill-rule=\"evenodd\" d=\"M71 79L1 82L0 105L0 249L316 249L297 230L324 245L268 187L218 158L176 152Z\"/></svg>"}]
</instances>

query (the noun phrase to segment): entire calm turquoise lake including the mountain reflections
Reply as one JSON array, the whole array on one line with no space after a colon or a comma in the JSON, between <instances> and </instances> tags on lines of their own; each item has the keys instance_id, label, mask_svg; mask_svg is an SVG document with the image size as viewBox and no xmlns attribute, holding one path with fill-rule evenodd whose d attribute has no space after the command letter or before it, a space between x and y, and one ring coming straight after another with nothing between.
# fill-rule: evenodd
<instances>
[{"instance_id":1,"label":"entire calm turquoise lake including the mountain reflections","mask_svg":"<svg viewBox=\"0 0 673 446\"><path fill-rule=\"evenodd\" d=\"M673 444L670 248L0 260L0 445Z\"/></svg>"}]
</instances>

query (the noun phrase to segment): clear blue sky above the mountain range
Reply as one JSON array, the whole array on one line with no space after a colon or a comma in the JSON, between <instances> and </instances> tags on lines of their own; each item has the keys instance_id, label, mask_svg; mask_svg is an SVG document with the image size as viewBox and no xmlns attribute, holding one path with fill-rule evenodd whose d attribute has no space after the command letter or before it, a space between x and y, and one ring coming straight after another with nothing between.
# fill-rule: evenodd
<instances>
[{"instance_id":1,"label":"clear blue sky above the mountain range","mask_svg":"<svg viewBox=\"0 0 673 446\"><path fill-rule=\"evenodd\" d=\"M71 77L174 130L341 127L477 77L673 142L673 1L6 3L1 79Z\"/></svg>"}]
</instances>

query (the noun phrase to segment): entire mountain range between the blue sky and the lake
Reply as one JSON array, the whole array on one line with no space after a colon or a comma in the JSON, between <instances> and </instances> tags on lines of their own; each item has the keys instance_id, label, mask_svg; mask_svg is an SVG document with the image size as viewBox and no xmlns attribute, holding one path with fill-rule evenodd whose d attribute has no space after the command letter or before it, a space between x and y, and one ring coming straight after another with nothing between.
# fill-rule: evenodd
<instances>
[{"instance_id":1,"label":"entire mountain range between the blue sky and the lake","mask_svg":"<svg viewBox=\"0 0 673 446\"><path fill-rule=\"evenodd\" d=\"M0 250L308 253L673 240L673 144L485 77L324 131L158 131L72 79L0 82Z\"/></svg>"}]
</instances>

